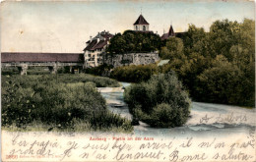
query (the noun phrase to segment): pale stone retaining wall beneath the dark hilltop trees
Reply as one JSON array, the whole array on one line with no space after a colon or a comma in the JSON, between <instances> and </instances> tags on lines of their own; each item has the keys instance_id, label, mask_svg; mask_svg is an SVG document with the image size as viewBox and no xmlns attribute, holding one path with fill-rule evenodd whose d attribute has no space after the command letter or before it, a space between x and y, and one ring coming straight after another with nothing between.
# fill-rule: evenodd
<instances>
[{"instance_id":1,"label":"pale stone retaining wall beneath the dark hilltop trees","mask_svg":"<svg viewBox=\"0 0 256 162\"><path fill-rule=\"evenodd\" d=\"M128 53L105 56L103 62L114 67L126 65L146 65L160 60L159 53Z\"/></svg>"}]
</instances>

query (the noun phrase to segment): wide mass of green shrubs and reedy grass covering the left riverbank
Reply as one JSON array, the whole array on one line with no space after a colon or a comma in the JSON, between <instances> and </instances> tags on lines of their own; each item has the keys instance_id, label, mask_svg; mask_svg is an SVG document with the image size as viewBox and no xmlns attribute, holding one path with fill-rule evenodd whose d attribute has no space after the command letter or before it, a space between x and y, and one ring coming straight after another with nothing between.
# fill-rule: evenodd
<instances>
[{"instance_id":1,"label":"wide mass of green shrubs and reedy grass covering the left riverbank","mask_svg":"<svg viewBox=\"0 0 256 162\"><path fill-rule=\"evenodd\" d=\"M76 121L83 121L93 130L132 130L129 121L108 112L94 82L61 83L51 76L2 78L4 127L26 128L38 121L48 129L72 130Z\"/></svg>"}]
</instances>

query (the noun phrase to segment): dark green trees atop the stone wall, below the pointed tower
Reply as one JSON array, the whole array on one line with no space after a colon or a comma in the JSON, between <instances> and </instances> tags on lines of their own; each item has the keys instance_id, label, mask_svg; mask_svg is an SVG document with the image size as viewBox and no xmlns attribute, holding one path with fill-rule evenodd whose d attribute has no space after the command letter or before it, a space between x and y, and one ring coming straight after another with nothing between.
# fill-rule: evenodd
<instances>
[{"instance_id":1,"label":"dark green trees atop the stone wall, below the pointed tower","mask_svg":"<svg viewBox=\"0 0 256 162\"><path fill-rule=\"evenodd\" d=\"M106 53L154 52L160 49L160 44L160 36L156 33L126 30L111 38Z\"/></svg>"}]
</instances>

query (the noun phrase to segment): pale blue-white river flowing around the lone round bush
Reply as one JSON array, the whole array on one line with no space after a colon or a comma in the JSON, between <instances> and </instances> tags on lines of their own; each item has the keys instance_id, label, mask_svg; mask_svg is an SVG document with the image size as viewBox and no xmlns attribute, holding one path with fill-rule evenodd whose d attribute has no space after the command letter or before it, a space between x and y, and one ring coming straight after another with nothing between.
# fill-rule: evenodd
<instances>
[{"instance_id":1,"label":"pale blue-white river flowing around the lone round bush","mask_svg":"<svg viewBox=\"0 0 256 162\"><path fill-rule=\"evenodd\" d=\"M121 82L123 86L130 83ZM122 87L98 87L105 98L107 108L122 117L132 119L128 106L124 102ZM255 130L255 109L223 104L192 102L191 117L182 127L170 129L151 128L140 122L134 127L134 135L159 136L208 136L208 135L238 135Z\"/></svg>"}]
</instances>

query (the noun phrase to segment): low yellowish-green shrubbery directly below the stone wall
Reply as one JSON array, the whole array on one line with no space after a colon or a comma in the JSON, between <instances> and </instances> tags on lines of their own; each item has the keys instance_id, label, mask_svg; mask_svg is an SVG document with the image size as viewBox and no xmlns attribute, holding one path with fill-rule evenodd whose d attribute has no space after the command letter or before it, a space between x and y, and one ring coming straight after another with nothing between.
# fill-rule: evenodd
<instances>
[{"instance_id":1,"label":"low yellowish-green shrubbery directly below the stone wall","mask_svg":"<svg viewBox=\"0 0 256 162\"><path fill-rule=\"evenodd\" d=\"M110 78L118 81L141 82L148 81L152 75L157 73L158 67L156 64L130 65L115 68L111 72Z\"/></svg>"}]
</instances>

